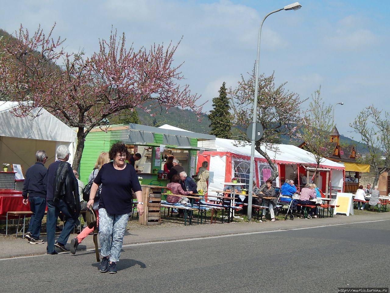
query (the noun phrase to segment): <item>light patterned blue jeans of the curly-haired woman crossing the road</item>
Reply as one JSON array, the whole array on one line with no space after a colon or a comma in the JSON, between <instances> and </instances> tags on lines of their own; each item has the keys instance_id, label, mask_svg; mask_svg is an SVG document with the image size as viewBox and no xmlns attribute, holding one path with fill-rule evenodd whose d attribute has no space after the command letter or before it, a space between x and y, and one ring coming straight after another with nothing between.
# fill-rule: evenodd
<instances>
[{"instance_id":1,"label":"light patterned blue jeans of the curly-haired woman crossing the road","mask_svg":"<svg viewBox=\"0 0 390 293\"><path fill-rule=\"evenodd\" d=\"M100 254L110 255L110 261L119 261L129 214L108 214L106 209L99 209Z\"/></svg>"}]
</instances>

